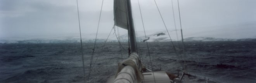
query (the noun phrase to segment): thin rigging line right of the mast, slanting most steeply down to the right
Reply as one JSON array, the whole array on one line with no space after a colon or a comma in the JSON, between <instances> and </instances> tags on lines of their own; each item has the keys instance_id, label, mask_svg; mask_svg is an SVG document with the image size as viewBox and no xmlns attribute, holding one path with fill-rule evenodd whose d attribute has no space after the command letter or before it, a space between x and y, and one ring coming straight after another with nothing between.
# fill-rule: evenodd
<instances>
[{"instance_id":1,"label":"thin rigging line right of the mast, slanting most steeply down to the right","mask_svg":"<svg viewBox=\"0 0 256 83\"><path fill-rule=\"evenodd\" d=\"M156 0L154 0L154 2L155 2L155 4L156 4ZM163 23L164 23L164 19L163 19L163 17L162 17L162 14L161 14L161 12L160 12L160 10L159 10L157 4L156 4L156 7L157 7L157 10L158 10L158 12L159 12L159 14L160 14L160 16L161 16L161 19L162 19L162 21L163 21ZM165 29L167 30L168 36L169 36L169 38L170 38L170 40L171 40L171 44L173 44L173 41L172 41L172 39L171 39L171 36L170 36L170 34L169 34L169 31L168 31L168 29L167 29L165 23L164 23L164 27L165 27ZM177 51L176 51L176 48L175 48L174 44L173 44L173 49L174 49L176 55L178 56L178 53L177 53ZM182 57L181 57L181 58L182 58ZM178 59L180 60L179 57L178 57ZM181 61L181 60L180 60L180 61ZM180 61L179 61L179 62L180 62ZM180 63L180 65L181 65L182 68L183 68L183 65L182 65L181 63Z\"/></svg>"}]
</instances>

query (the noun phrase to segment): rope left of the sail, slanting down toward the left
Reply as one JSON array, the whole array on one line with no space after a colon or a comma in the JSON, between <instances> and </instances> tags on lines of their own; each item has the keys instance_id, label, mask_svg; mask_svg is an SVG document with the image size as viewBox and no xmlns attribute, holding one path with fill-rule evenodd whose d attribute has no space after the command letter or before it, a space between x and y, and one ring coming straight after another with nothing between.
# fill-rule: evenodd
<instances>
[{"instance_id":1,"label":"rope left of the sail, slanting down toward the left","mask_svg":"<svg viewBox=\"0 0 256 83\"><path fill-rule=\"evenodd\" d=\"M100 8L100 17L101 17L101 12L102 12L102 7L103 7L103 1L104 0L102 0L102 4L101 4L101 8ZM98 36L98 30L99 30L99 25L100 25L100 17L99 17L99 21L98 21L98 27L97 27L94 47L93 47L92 56L91 56L91 60L90 60L90 71L91 71L91 68L92 68L92 60L93 60L93 55L94 55L95 46L96 46L96 40L97 40L97 36ZM88 75L88 80L89 80L89 78L90 78L90 72L89 72L89 75Z\"/></svg>"}]
</instances>

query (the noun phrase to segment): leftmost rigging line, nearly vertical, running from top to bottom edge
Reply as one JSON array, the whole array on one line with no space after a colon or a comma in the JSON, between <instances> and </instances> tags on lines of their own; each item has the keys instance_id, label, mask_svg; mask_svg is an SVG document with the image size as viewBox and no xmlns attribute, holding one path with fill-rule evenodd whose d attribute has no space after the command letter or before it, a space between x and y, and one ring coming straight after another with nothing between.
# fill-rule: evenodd
<instances>
[{"instance_id":1,"label":"leftmost rigging line, nearly vertical, running from top to bottom edge","mask_svg":"<svg viewBox=\"0 0 256 83\"><path fill-rule=\"evenodd\" d=\"M78 10L78 1L76 0L76 7L77 7L77 15L78 15L78 23L79 23L79 32L80 32L80 44L81 44L81 53L82 53L82 61L83 61L83 81L86 83L85 78L85 61L83 58L83 42L82 42L82 36L81 36L81 27L80 27L80 17L79 17L79 10Z\"/></svg>"}]
</instances>

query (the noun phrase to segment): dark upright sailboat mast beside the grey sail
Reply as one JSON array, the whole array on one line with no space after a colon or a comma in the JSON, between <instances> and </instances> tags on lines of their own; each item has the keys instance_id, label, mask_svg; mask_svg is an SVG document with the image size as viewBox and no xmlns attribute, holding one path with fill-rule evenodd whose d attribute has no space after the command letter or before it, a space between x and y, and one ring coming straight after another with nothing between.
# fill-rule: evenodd
<instances>
[{"instance_id":1,"label":"dark upright sailboat mast beside the grey sail","mask_svg":"<svg viewBox=\"0 0 256 83\"><path fill-rule=\"evenodd\" d=\"M131 0L125 0L126 3L126 13L127 13L127 20L128 20L128 35L130 38L130 49L131 53L135 52L137 53L137 46L136 46L136 36L134 31L134 25L133 25L133 16L131 11Z\"/></svg>"}]
</instances>

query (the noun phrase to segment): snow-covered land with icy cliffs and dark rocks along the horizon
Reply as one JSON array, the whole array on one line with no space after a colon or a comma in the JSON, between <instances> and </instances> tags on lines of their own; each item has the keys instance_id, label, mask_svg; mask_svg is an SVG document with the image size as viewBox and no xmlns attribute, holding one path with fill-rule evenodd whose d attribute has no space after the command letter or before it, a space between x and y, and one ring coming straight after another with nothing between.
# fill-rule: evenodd
<instances>
[{"instance_id":1,"label":"snow-covered land with icy cliffs and dark rocks along the horizon","mask_svg":"<svg viewBox=\"0 0 256 83\"><path fill-rule=\"evenodd\" d=\"M170 33L170 32L169 32ZM98 34L102 36L106 36L106 34ZM95 42L95 36L92 34L83 34L82 35L83 42ZM127 42L128 41L128 35L123 34L117 37L115 34L112 34L107 42L118 42L117 38L119 38L120 42ZM171 35L171 38L173 38L172 41L177 41ZM106 37L97 37L96 42L105 42ZM156 32L153 34L149 34L146 36L144 33L137 33L137 41L139 42L162 42L162 41L171 41L169 38L167 31L161 31ZM180 39L178 40L180 41ZM256 41L256 39L223 39L223 38L214 38L214 37L189 37L185 38L184 41ZM79 35L66 35L66 36L54 36L54 37L21 37L21 38L0 38L0 43L78 43L80 42L80 36Z\"/></svg>"}]
</instances>

